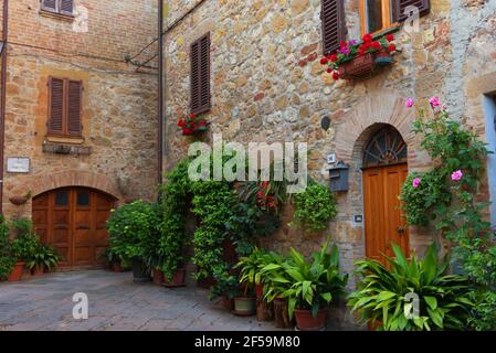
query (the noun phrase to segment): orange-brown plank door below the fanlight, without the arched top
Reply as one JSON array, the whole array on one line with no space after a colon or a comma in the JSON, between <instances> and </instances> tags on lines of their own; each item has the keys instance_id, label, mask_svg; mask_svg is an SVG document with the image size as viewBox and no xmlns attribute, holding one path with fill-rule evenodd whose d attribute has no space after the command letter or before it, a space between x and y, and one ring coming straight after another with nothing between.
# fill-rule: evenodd
<instances>
[{"instance_id":1,"label":"orange-brown plank door below the fanlight, without the arched top","mask_svg":"<svg viewBox=\"0 0 496 353\"><path fill-rule=\"evenodd\" d=\"M409 232L398 199L408 176L408 165L370 168L363 170L363 208L366 255L384 261L392 256L391 244L409 254Z\"/></svg>"}]
</instances>

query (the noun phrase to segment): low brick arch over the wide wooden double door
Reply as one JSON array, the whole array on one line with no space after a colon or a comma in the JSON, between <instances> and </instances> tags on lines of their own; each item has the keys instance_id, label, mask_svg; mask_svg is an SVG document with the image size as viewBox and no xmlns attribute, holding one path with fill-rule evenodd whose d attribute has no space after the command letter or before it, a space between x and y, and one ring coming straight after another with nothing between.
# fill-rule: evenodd
<instances>
[{"instance_id":1,"label":"low brick arch over the wide wooden double door","mask_svg":"<svg viewBox=\"0 0 496 353\"><path fill-rule=\"evenodd\" d=\"M87 171L72 170L56 174L36 176L35 180L30 183L28 190L31 190L32 196L34 197L50 190L67 186L84 186L99 190L117 199L118 203L124 200L116 182L105 175Z\"/></svg>"}]
</instances>

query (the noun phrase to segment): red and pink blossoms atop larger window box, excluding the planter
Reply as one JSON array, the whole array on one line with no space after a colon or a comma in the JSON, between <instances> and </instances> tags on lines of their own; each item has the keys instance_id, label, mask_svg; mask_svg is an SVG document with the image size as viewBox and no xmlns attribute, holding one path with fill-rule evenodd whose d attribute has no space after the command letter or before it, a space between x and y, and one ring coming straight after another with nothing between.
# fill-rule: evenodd
<instances>
[{"instance_id":1,"label":"red and pink blossoms atop larger window box, excluding the planter","mask_svg":"<svg viewBox=\"0 0 496 353\"><path fill-rule=\"evenodd\" d=\"M387 54L394 53L397 45L393 43L394 35L388 34L379 40L374 41L372 35L363 35L361 42L351 40L349 42L341 42L340 47L334 54L324 56L320 60L320 64L327 66L327 72L333 75L334 79L339 79L339 66L351 62L358 56L366 54L377 54L379 52L386 52Z\"/></svg>"}]
</instances>

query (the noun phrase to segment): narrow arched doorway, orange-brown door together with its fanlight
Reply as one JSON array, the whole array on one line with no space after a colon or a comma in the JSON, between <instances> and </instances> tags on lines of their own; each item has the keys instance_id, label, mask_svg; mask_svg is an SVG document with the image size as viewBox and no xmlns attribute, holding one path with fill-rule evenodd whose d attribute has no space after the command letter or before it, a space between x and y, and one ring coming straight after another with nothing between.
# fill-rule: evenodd
<instances>
[{"instance_id":1,"label":"narrow arched doorway, orange-brown door together with its fanlight","mask_svg":"<svg viewBox=\"0 0 496 353\"><path fill-rule=\"evenodd\" d=\"M384 261L392 256L391 244L409 254L409 229L398 199L408 176L408 148L400 132L390 125L366 145L362 159L366 255Z\"/></svg>"}]
</instances>

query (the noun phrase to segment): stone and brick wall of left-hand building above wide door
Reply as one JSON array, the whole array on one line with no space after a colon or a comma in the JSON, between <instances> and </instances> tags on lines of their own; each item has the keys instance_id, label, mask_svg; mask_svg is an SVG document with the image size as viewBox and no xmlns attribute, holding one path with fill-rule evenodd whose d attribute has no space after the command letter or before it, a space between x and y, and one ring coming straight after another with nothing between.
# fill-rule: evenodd
<instances>
[{"instance_id":1,"label":"stone and brick wall of left-hand building above wide door","mask_svg":"<svg viewBox=\"0 0 496 353\"><path fill-rule=\"evenodd\" d=\"M155 69L137 72L125 56L137 54L155 39L157 1L112 1L110 7L97 0L75 3L76 18L65 19L41 12L39 0L10 1L6 160L28 157L31 171L6 171L8 217L31 215L30 202L22 206L9 202L28 191L34 196L81 185L120 202L156 197L157 75ZM135 60L143 62L156 51L152 45ZM81 79L84 85L84 141L63 141L72 146L71 154L43 149L49 76Z\"/></svg>"}]
</instances>

